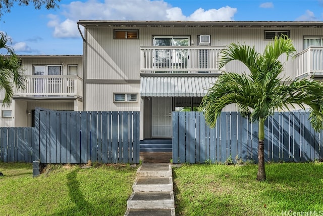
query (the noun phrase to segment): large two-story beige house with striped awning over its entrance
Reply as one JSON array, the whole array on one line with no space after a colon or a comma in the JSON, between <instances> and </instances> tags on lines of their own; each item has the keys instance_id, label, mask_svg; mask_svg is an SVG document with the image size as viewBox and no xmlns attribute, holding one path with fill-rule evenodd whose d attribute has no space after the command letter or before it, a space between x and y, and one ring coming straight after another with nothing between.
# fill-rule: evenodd
<instances>
[{"instance_id":1,"label":"large two-story beige house with striped awning over its entrance","mask_svg":"<svg viewBox=\"0 0 323 216\"><path fill-rule=\"evenodd\" d=\"M285 76L323 75L323 22L96 21L77 22L83 38L84 110L140 111L140 139L171 139L172 111L194 110L225 71L248 71L240 62L219 69L231 42L262 52L288 35L297 50ZM284 60L284 57L282 57ZM235 110L228 106L226 111Z\"/></svg>"}]
</instances>

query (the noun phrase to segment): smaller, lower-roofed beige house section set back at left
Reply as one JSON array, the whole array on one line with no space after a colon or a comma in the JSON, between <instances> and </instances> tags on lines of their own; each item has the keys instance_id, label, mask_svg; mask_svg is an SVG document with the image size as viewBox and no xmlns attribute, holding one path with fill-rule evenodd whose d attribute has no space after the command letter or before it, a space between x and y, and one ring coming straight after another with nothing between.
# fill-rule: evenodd
<instances>
[{"instance_id":1,"label":"smaller, lower-roofed beige house section set back at left","mask_svg":"<svg viewBox=\"0 0 323 216\"><path fill-rule=\"evenodd\" d=\"M22 55L25 89L14 90L10 106L2 106L0 127L34 125L36 107L83 110L82 55ZM1 92L1 99L4 92Z\"/></svg>"}]
</instances>

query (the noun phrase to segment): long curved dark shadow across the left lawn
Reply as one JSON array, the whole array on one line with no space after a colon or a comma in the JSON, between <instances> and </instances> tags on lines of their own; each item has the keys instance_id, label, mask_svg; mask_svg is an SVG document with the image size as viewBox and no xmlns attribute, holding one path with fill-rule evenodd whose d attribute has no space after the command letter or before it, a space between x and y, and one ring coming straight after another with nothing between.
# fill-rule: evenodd
<instances>
[{"instance_id":1,"label":"long curved dark shadow across the left lawn","mask_svg":"<svg viewBox=\"0 0 323 216\"><path fill-rule=\"evenodd\" d=\"M80 168L77 168L67 175L67 186L69 195L75 206L56 212L52 215L93 215L94 207L84 199L80 190L80 183L77 181L77 174Z\"/></svg>"}]
</instances>

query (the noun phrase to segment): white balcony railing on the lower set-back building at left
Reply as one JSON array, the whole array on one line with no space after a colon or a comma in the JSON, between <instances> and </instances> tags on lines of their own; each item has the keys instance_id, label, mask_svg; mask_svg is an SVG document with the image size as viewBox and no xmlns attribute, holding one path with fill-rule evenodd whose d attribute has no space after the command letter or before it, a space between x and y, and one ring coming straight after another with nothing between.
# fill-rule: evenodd
<instances>
[{"instance_id":1,"label":"white balcony railing on the lower set-back building at left","mask_svg":"<svg viewBox=\"0 0 323 216\"><path fill-rule=\"evenodd\" d=\"M15 96L77 97L81 83L77 76L25 76L25 89L16 89Z\"/></svg>"}]
</instances>

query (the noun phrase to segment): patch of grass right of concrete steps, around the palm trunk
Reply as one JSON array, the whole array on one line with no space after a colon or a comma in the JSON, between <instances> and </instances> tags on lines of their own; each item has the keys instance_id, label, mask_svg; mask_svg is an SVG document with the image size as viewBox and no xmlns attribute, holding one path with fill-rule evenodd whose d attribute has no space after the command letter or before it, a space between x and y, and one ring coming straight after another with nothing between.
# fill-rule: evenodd
<instances>
[{"instance_id":1,"label":"patch of grass right of concrete steps, around the palm trunk","mask_svg":"<svg viewBox=\"0 0 323 216\"><path fill-rule=\"evenodd\" d=\"M174 167L176 215L323 215L323 163L265 169L257 182L257 164Z\"/></svg>"}]
</instances>

